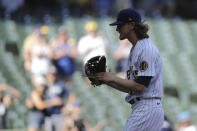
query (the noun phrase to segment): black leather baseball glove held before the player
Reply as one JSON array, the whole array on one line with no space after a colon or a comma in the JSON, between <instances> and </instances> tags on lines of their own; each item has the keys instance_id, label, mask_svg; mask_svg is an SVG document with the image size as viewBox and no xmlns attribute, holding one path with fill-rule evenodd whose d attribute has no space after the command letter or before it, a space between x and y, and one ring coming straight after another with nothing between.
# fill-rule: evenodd
<instances>
[{"instance_id":1,"label":"black leather baseball glove held before the player","mask_svg":"<svg viewBox=\"0 0 197 131\"><path fill-rule=\"evenodd\" d=\"M106 57L95 56L90 58L85 64L85 74L91 81L91 85L99 86L102 81L95 79L94 74L99 72L106 72Z\"/></svg>"}]
</instances>

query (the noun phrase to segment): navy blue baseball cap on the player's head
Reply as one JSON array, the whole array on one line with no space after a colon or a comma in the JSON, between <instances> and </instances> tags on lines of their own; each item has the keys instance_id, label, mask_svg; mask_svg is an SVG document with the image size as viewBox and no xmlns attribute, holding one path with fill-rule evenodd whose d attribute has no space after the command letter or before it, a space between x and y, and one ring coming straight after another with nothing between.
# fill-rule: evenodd
<instances>
[{"instance_id":1,"label":"navy blue baseball cap on the player's head","mask_svg":"<svg viewBox=\"0 0 197 131\"><path fill-rule=\"evenodd\" d=\"M123 9L118 13L117 20L109 25L122 25L128 22L141 22L141 15L134 9Z\"/></svg>"}]
</instances>

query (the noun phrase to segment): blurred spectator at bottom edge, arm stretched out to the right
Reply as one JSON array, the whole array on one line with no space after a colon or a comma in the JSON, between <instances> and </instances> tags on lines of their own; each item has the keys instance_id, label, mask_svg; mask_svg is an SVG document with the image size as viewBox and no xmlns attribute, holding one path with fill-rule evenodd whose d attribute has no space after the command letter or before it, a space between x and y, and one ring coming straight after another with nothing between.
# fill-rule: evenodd
<instances>
[{"instance_id":1,"label":"blurred spectator at bottom edge, arm stretched out to the right","mask_svg":"<svg viewBox=\"0 0 197 131\"><path fill-rule=\"evenodd\" d=\"M81 105L78 101L75 101L75 103L67 108L69 110L67 112L69 117L64 119L64 131L69 131L69 129L72 131L101 131L108 124L106 120L103 120L94 127L91 127L85 119L81 118Z\"/></svg>"}]
</instances>

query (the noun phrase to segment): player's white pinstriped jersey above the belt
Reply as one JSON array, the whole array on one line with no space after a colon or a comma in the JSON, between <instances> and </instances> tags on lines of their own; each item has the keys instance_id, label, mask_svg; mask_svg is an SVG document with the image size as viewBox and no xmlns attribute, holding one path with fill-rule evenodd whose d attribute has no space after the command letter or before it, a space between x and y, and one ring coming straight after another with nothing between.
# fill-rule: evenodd
<instances>
[{"instance_id":1,"label":"player's white pinstriped jersey above the belt","mask_svg":"<svg viewBox=\"0 0 197 131\"><path fill-rule=\"evenodd\" d=\"M138 76L152 76L149 86L143 93L131 92L125 100L136 97L162 97L162 60L157 47L149 40L139 40L128 58L127 79L135 80Z\"/></svg>"}]
</instances>

